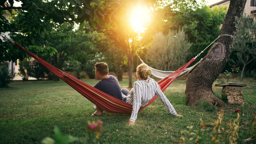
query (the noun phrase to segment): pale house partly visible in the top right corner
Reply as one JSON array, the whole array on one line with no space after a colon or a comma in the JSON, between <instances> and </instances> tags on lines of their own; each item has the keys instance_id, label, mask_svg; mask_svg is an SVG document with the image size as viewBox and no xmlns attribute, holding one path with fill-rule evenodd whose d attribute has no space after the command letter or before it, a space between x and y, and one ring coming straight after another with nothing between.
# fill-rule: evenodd
<instances>
[{"instance_id":1,"label":"pale house partly visible in the top right corner","mask_svg":"<svg viewBox=\"0 0 256 144\"><path fill-rule=\"evenodd\" d=\"M230 1L224 0L224 1L221 1L221 2L210 5L210 8L213 7L213 6L221 6L221 5L229 6L229 4L230 4ZM255 21L256 20L256 0L247 0L246 4L245 4L245 7L244 7L244 12L247 15L253 14L254 15L253 20Z\"/></svg>"}]
</instances>

